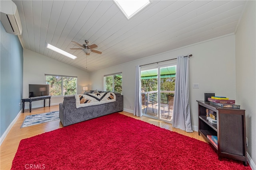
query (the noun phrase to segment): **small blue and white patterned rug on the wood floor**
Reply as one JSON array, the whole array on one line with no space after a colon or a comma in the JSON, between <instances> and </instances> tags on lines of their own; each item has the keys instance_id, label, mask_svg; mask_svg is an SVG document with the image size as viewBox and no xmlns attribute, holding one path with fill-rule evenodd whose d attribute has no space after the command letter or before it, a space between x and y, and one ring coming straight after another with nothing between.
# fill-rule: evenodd
<instances>
[{"instance_id":1,"label":"small blue and white patterned rug on the wood floor","mask_svg":"<svg viewBox=\"0 0 256 170\"><path fill-rule=\"evenodd\" d=\"M38 125L40 123L45 123L49 121L59 120L59 111L52 111L49 113L41 113L37 115L28 115L25 117L25 120L23 121L22 127L28 127L32 125Z\"/></svg>"}]
</instances>

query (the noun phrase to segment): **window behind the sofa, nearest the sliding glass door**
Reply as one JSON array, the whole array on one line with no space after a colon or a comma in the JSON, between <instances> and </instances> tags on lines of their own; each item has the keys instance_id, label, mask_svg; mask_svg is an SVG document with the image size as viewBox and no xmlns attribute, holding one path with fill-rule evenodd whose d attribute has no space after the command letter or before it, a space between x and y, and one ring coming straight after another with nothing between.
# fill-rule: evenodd
<instances>
[{"instance_id":1,"label":"window behind the sofa, nearest the sliding glass door","mask_svg":"<svg viewBox=\"0 0 256 170\"><path fill-rule=\"evenodd\" d=\"M122 72L104 76L104 91L122 94Z\"/></svg>"}]
</instances>

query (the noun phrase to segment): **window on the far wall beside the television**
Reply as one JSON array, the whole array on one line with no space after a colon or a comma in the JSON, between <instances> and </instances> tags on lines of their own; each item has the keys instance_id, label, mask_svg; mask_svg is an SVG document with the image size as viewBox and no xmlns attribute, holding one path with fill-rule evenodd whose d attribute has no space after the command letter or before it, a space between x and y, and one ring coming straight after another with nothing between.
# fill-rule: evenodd
<instances>
[{"instance_id":1,"label":"window on the far wall beside the television","mask_svg":"<svg viewBox=\"0 0 256 170\"><path fill-rule=\"evenodd\" d=\"M76 94L77 77L45 74L45 78L50 86L50 96Z\"/></svg>"}]
</instances>

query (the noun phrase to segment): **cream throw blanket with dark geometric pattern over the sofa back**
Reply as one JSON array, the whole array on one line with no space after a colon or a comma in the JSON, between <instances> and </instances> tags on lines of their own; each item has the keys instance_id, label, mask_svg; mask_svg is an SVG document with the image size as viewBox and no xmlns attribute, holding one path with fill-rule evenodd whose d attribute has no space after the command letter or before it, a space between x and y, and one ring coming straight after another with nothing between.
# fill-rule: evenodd
<instances>
[{"instance_id":1,"label":"cream throw blanket with dark geometric pattern over the sofa back","mask_svg":"<svg viewBox=\"0 0 256 170\"><path fill-rule=\"evenodd\" d=\"M116 95L112 92L75 94L75 98L76 108L116 102Z\"/></svg>"}]
</instances>

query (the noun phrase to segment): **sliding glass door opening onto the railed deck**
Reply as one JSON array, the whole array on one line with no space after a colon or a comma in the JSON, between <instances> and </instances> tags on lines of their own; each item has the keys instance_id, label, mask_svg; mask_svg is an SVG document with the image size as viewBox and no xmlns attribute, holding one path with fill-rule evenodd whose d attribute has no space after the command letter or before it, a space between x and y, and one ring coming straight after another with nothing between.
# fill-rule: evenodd
<instances>
[{"instance_id":1,"label":"sliding glass door opening onto the railed deck","mask_svg":"<svg viewBox=\"0 0 256 170\"><path fill-rule=\"evenodd\" d=\"M176 65L158 66L141 71L142 113L172 121Z\"/></svg>"}]
</instances>

